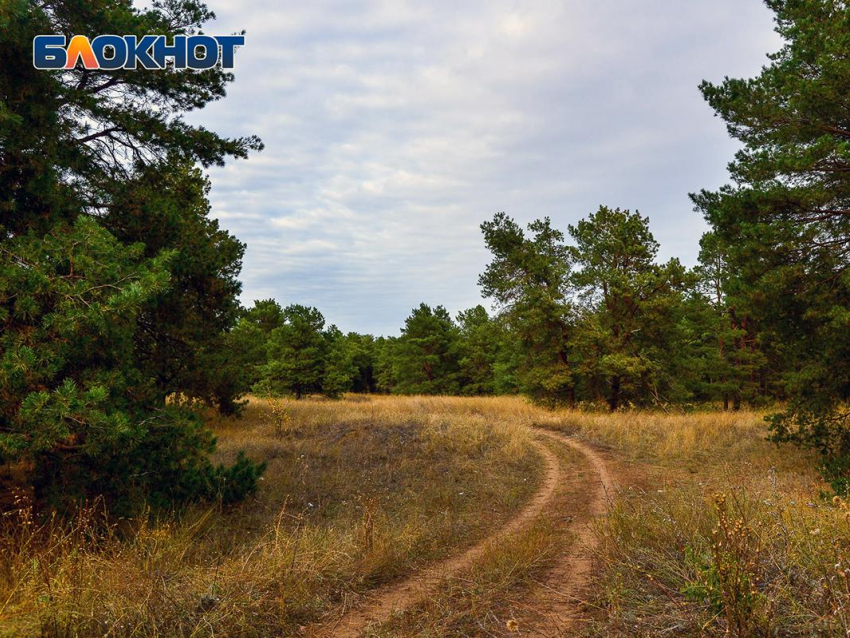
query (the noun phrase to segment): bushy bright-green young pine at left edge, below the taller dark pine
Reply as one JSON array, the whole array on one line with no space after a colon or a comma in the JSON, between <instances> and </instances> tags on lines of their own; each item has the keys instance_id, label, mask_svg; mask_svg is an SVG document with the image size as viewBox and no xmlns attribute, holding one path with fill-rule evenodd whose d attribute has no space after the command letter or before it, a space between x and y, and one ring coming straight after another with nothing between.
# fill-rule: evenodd
<instances>
[{"instance_id":1,"label":"bushy bright-green young pine at left edge, below the taller dark pine","mask_svg":"<svg viewBox=\"0 0 850 638\"><path fill-rule=\"evenodd\" d=\"M44 505L165 505L209 496L213 476L230 476L207 458L209 432L165 407L138 364L139 317L168 287L174 258L142 252L86 217L0 246L0 463L20 467ZM246 468L237 473L230 495L254 487Z\"/></svg>"}]
</instances>

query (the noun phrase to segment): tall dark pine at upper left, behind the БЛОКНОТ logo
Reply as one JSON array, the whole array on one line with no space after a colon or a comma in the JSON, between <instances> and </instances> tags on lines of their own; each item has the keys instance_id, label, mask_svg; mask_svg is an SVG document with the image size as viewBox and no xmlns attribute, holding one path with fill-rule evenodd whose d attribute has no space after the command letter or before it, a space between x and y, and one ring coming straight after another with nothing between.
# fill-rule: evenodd
<instances>
[{"instance_id":1,"label":"tall dark pine at upper left, behind the \u0411\u041b\u041e\u041a\u041d\u041e\u0422 logo","mask_svg":"<svg viewBox=\"0 0 850 638\"><path fill-rule=\"evenodd\" d=\"M209 219L209 184L196 166L244 157L261 144L222 138L182 117L224 97L232 74L45 72L31 63L36 34L171 37L199 31L212 13L194 0L148 9L126 0L8 4L0 33L4 234L44 234L93 214L120 241L144 243L145 257L175 251L171 285L139 317L139 355L161 389L232 410L246 388L230 382L238 375L226 374L216 353L237 317L244 246Z\"/></svg>"}]
</instances>

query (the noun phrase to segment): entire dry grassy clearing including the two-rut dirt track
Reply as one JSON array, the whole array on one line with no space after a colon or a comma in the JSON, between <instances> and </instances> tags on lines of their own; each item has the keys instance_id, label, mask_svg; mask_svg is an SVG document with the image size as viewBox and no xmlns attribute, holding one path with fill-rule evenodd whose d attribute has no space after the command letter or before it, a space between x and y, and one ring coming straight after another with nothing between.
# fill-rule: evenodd
<instances>
[{"instance_id":1,"label":"entire dry grassy clearing including the two-rut dirt track","mask_svg":"<svg viewBox=\"0 0 850 638\"><path fill-rule=\"evenodd\" d=\"M111 527L96 504L68 523L25 504L5 516L2 635L841 635L850 622L847 509L812 501L811 459L766 442L757 413L348 395L252 399L214 429L220 460L267 463L243 503Z\"/></svg>"}]
</instances>

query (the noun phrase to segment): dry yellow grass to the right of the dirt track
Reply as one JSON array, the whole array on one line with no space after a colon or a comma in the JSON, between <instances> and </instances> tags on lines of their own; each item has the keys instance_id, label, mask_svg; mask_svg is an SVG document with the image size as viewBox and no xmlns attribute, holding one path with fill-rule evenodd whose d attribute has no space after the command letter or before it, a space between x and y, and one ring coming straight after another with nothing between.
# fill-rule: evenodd
<instances>
[{"instance_id":1,"label":"dry yellow grass to the right of the dirt track","mask_svg":"<svg viewBox=\"0 0 850 638\"><path fill-rule=\"evenodd\" d=\"M850 519L763 414L563 412L627 459L599 526L592 636L848 636Z\"/></svg>"}]
</instances>

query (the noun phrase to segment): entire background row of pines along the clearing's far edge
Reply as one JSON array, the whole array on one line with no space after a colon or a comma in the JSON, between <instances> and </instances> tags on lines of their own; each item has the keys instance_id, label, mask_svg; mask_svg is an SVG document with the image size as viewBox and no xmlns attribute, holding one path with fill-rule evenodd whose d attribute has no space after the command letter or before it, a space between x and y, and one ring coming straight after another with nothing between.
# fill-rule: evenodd
<instances>
[{"instance_id":1,"label":"entire background row of pines along the clearing's far edge","mask_svg":"<svg viewBox=\"0 0 850 638\"><path fill-rule=\"evenodd\" d=\"M493 259L479 278L496 312L414 308L397 337L342 334L316 308L274 300L229 335L242 387L266 394L521 393L551 406L764 405L788 394L782 362L726 292L713 234L701 263L656 263L639 213L602 207L565 235L500 213L482 224Z\"/></svg>"}]
</instances>

